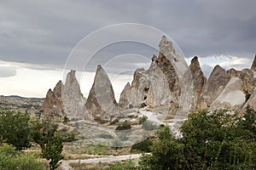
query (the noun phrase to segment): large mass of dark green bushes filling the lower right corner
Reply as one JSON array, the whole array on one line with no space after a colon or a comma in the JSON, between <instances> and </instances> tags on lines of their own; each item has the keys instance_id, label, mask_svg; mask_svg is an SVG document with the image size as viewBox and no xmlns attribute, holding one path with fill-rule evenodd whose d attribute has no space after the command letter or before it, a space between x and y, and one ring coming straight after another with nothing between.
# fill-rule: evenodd
<instances>
[{"instance_id":1,"label":"large mass of dark green bushes filling the lower right corner","mask_svg":"<svg viewBox=\"0 0 256 170\"><path fill-rule=\"evenodd\" d=\"M191 113L180 130L177 139L169 127L160 127L151 154L130 169L256 168L256 111L251 107L242 117L224 110Z\"/></svg>"}]
</instances>

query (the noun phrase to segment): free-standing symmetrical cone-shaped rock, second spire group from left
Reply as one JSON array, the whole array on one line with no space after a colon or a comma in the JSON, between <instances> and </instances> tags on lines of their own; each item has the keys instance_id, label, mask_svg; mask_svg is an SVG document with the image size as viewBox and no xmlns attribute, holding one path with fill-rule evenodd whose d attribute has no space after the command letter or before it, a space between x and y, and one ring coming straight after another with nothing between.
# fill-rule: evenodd
<instances>
[{"instance_id":1,"label":"free-standing symmetrical cone-shaped rock, second spire group from left","mask_svg":"<svg viewBox=\"0 0 256 170\"><path fill-rule=\"evenodd\" d=\"M111 121L115 115L117 102L114 99L113 87L101 65L97 66L96 76L85 106L98 122Z\"/></svg>"}]
</instances>

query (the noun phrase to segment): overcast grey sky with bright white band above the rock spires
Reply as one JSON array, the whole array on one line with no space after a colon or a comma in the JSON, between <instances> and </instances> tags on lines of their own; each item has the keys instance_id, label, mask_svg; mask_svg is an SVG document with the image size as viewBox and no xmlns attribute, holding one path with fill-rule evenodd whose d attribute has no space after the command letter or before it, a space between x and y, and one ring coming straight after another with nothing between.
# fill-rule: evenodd
<instances>
[{"instance_id":1,"label":"overcast grey sky with bright white band above the rock spires","mask_svg":"<svg viewBox=\"0 0 256 170\"><path fill-rule=\"evenodd\" d=\"M255 7L255 0L0 0L0 95L44 97L71 68L86 94L97 64L119 94L157 54L159 34L141 25L172 37L188 64L197 55L207 76L217 64L241 70L256 54ZM134 31L121 23L139 25Z\"/></svg>"}]
</instances>

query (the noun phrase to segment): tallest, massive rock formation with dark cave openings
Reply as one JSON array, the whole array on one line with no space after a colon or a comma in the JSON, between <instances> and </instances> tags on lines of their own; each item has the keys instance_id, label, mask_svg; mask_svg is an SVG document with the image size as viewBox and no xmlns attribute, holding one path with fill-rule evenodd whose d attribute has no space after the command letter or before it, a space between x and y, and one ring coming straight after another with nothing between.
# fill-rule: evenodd
<instances>
[{"instance_id":1,"label":"tallest, massive rock formation with dark cave openings","mask_svg":"<svg viewBox=\"0 0 256 170\"><path fill-rule=\"evenodd\" d=\"M181 96L180 82L188 66L165 36L159 48L159 56L153 56L148 71L135 71L129 101L135 107L170 105L173 111L177 111Z\"/></svg>"}]
</instances>

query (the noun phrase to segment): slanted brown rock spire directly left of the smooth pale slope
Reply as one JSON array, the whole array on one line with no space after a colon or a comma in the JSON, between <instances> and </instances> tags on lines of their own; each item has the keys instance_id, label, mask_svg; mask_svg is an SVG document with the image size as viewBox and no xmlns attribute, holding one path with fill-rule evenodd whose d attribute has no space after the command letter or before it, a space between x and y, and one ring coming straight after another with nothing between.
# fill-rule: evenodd
<instances>
[{"instance_id":1,"label":"slanted brown rock spire directly left of the smooth pale slope","mask_svg":"<svg viewBox=\"0 0 256 170\"><path fill-rule=\"evenodd\" d=\"M207 108L212 105L212 102L218 98L218 95L224 90L227 83L230 81L230 74L227 73L221 66L216 65L207 80L207 84L202 94L200 107Z\"/></svg>"}]
</instances>

